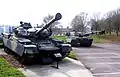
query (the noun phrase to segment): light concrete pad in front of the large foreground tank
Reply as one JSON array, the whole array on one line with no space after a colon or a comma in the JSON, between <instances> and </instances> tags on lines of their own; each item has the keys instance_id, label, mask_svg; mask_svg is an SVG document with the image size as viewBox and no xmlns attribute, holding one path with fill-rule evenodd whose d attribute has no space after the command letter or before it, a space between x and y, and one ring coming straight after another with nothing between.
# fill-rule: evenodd
<instances>
[{"instance_id":1,"label":"light concrete pad in front of the large foreground tank","mask_svg":"<svg viewBox=\"0 0 120 77\"><path fill-rule=\"evenodd\" d=\"M81 62L70 58L61 61L59 69L51 66L56 66L56 64L25 66L25 68L19 70L26 77L93 77Z\"/></svg>"}]
</instances>

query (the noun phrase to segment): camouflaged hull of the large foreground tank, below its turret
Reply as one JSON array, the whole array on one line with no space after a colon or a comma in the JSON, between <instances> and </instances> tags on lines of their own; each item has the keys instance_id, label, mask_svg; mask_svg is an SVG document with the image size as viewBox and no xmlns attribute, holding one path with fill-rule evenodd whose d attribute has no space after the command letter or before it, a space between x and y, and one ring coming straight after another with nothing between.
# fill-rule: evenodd
<instances>
[{"instance_id":1,"label":"camouflaged hull of the large foreground tank, below its turret","mask_svg":"<svg viewBox=\"0 0 120 77\"><path fill-rule=\"evenodd\" d=\"M48 64L54 61L60 61L69 55L72 51L71 45L69 44L60 44L59 46L45 46L39 47L34 44L25 45L28 39L24 39L24 43L20 42L21 40L13 40L10 38L3 37L4 47L14 52L20 57L20 62L23 64L29 64L35 60L40 61L41 63ZM22 40L23 41L23 40Z\"/></svg>"}]
</instances>

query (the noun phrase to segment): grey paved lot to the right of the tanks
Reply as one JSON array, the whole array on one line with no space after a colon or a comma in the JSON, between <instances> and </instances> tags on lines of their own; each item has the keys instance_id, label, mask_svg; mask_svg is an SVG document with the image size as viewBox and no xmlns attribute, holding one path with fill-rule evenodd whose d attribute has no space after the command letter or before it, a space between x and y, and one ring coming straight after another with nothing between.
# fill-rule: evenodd
<instances>
[{"instance_id":1,"label":"grey paved lot to the right of the tanks","mask_svg":"<svg viewBox=\"0 0 120 77\"><path fill-rule=\"evenodd\" d=\"M73 48L94 77L120 77L120 44L93 44Z\"/></svg>"}]
</instances>

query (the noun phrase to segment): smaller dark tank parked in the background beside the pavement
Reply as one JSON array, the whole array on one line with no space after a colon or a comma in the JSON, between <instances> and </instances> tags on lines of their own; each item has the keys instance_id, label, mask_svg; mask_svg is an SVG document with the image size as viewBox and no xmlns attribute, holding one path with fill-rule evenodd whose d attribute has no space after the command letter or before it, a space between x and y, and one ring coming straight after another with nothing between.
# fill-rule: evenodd
<instances>
[{"instance_id":1,"label":"smaller dark tank parked in the background beside the pavement","mask_svg":"<svg viewBox=\"0 0 120 77\"><path fill-rule=\"evenodd\" d=\"M71 46L84 46L84 47L90 47L92 45L93 39L90 37L94 33L85 33L82 34L81 32L69 32L66 33L67 35L67 43L70 43Z\"/></svg>"}]
</instances>

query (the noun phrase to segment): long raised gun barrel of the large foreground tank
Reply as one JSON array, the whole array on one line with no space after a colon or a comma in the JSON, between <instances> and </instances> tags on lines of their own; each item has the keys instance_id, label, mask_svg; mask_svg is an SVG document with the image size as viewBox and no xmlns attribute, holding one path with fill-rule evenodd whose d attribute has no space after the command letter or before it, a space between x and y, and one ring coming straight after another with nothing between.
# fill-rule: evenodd
<instances>
[{"instance_id":1,"label":"long raised gun barrel of the large foreground tank","mask_svg":"<svg viewBox=\"0 0 120 77\"><path fill-rule=\"evenodd\" d=\"M52 23L54 23L57 20L60 20L62 18L62 15L60 13L57 13L53 19L51 19L47 24L45 24L41 30L38 30L35 35L38 35L41 33L43 30L47 29Z\"/></svg>"}]
</instances>

